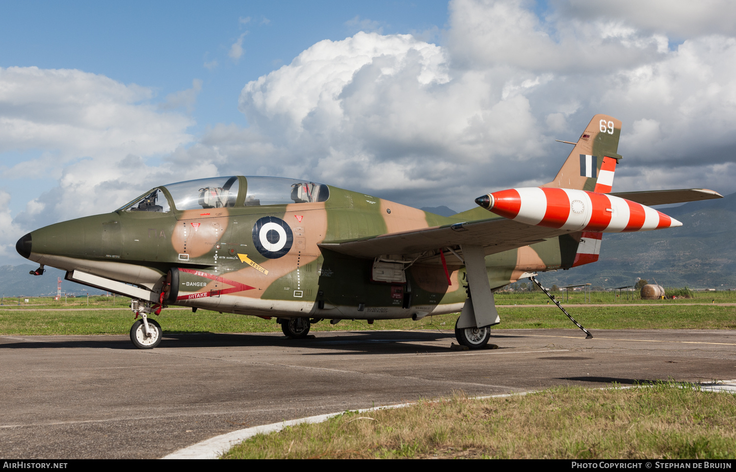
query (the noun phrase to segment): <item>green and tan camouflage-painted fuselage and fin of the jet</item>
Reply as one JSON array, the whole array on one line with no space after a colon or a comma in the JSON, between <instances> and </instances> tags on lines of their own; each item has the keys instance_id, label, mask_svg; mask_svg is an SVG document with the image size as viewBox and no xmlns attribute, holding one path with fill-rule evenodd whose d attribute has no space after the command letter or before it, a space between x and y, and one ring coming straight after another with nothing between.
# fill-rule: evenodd
<instances>
[{"instance_id":1,"label":"green and tan camouflage-painted fuselage and fin of the jet","mask_svg":"<svg viewBox=\"0 0 736 472\"><path fill-rule=\"evenodd\" d=\"M620 159L620 126L615 118L595 115L555 179L544 187L593 190L603 157ZM595 176L581 176L581 154L599 157ZM244 206L248 178L238 176L238 185L233 207L183 211L174 208L166 187L159 187L169 200L169 212L118 210L53 224L26 235L27 247L18 242L27 255L22 248L18 251L43 265L154 293L163 290L168 305L266 318L411 318L463 307L464 265L450 251L461 251L459 245L443 244L420 254L385 254L407 265L414 260L406 268L406 283L386 283L372 282L375 257L355 257L319 244L505 219L480 207L443 217L331 186L327 201L249 207ZM264 217L280 218L291 229L293 243L282 257L264 257L255 247L254 226ZM564 233L495 253L486 248L492 290L516 282L524 273L576 265L581 233ZM586 262L597 257L596 251Z\"/></svg>"}]
</instances>

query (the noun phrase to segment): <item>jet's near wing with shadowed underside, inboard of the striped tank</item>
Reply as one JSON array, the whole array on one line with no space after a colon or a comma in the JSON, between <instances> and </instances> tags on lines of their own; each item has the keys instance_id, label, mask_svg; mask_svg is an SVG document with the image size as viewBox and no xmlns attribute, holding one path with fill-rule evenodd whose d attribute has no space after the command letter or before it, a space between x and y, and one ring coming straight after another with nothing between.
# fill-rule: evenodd
<instances>
[{"instance_id":1,"label":"jet's near wing with shadowed underside, inboard of the striped tank","mask_svg":"<svg viewBox=\"0 0 736 472\"><path fill-rule=\"evenodd\" d=\"M565 229L531 226L506 218L489 218L360 240L330 241L320 243L319 247L353 257L372 259L383 254L416 254L419 257L425 251L467 244L483 246L488 255L528 246L569 232Z\"/></svg>"}]
</instances>

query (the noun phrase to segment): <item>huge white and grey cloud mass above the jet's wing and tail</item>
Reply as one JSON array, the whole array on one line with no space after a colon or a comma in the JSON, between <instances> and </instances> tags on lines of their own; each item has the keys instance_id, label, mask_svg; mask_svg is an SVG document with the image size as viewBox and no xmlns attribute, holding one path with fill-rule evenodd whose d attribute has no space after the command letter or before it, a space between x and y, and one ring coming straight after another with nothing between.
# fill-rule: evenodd
<instances>
[{"instance_id":1,"label":"huge white and grey cloud mass above the jet's wing and tail","mask_svg":"<svg viewBox=\"0 0 736 472\"><path fill-rule=\"evenodd\" d=\"M677 29L692 36L670 48L672 29L640 19L658 8L682 25L692 16ZM233 160L464 209L476 193L546 182L569 150L554 138L575 140L605 112L624 123L619 190L736 190L723 176L736 148L735 38L699 29L706 10L684 3L569 11L458 0L445 46L375 32L316 43L241 93L249 139L278 158L249 159L244 141L228 146Z\"/></svg>"}]
</instances>

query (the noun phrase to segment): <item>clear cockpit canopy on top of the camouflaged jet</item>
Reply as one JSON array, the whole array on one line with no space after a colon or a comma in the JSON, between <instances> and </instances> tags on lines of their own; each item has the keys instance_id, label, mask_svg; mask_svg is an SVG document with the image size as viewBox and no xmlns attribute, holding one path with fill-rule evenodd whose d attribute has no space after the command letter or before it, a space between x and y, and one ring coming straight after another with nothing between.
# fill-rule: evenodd
<instances>
[{"instance_id":1,"label":"clear cockpit canopy on top of the camouflaged jet","mask_svg":"<svg viewBox=\"0 0 736 472\"><path fill-rule=\"evenodd\" d=\"M247 190L245 196L238 199L241 190L241 179L247 182L247 185L245 185ZM118 210L169 212L169 201L161 191L162 188L169 192L171 200L173 200L171 203L173 203L176 210L312 203L326 201L330 196L327 185L305 179L227 176L163 185L149 190L143 196L130 201Z\"/></svg>"}]
</instances>

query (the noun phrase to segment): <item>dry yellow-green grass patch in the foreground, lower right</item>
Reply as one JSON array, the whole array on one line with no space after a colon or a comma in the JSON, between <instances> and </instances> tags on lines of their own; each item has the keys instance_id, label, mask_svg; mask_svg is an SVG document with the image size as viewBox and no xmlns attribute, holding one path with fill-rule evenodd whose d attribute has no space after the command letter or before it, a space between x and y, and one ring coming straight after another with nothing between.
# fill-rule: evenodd
<instances>
[{"instance_id":1,"label":"dry yellow-green grass patch in the foreground, lower right","mask_svg":"<svg viewBox=\"0 0 736 472\"><path fill-rule=\"evenodd\" d=\"M734 459L736 398L658 383L461 395L256 435L226 459Z\"/></svg>"}]
</instances>

